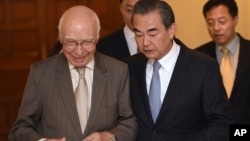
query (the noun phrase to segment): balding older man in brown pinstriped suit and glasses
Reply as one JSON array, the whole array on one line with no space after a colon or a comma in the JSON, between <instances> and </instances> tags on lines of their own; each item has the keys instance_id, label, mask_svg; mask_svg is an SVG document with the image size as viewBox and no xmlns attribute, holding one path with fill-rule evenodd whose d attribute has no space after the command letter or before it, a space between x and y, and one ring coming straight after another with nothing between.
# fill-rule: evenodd
<instances>
[{"instance_id":1,"label":"balding older man in brown pinstriped suit and glasses","mask_svg":"<svg viewBox=\"0 0 250 141\"><path fill-rule=\"evenodd\" d=\"M58 28L63 53L31 66L9 140L134 141L137 123L129 97L128 68L95 52L100 31L95 12L74 6L63 14ZM83 87L78 86L79 68L85 69L85 107L78 106L80 99L74 94ZM82 116L87 117L86 126L80 124L86 119Z\"/></svg>"}]
</instances>

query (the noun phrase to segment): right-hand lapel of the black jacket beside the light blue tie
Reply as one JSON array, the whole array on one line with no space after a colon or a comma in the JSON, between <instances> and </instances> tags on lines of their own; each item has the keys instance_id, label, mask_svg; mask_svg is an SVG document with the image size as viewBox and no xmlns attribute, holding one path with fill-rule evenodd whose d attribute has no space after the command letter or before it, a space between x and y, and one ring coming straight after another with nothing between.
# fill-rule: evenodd
<instances>
[{"instance_id":1,"label":"right-hand lapel of the black jacket beside the light blue tie","mask_svg":"<svg viewBox=\"0 0 250 141\"><path fill-rule=\"evenodd\" d=\"M190 76L189 73L191 69L188 66L189 62L186 53L186 47L181 47L180 54L169 82L169 86L164 97L156 124L159 124L159 121L163 120L163 115L167 114L169 105L172 105L172 103L175 102L177 98L179 98L181 90L184 87L186 80Z\"/></svg>"}]
</instances>

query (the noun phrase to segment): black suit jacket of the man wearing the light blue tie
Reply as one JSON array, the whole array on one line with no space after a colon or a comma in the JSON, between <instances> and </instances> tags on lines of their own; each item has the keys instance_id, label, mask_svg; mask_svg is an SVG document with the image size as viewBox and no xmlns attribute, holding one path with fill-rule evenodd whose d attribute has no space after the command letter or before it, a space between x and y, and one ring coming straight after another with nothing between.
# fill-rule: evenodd
<instances>
[{"instance_id":1,"label":"black suit jacket of the man wearing the light blue tie","mask_svg":"<svg viewBox=\"0 0 250 141\"><path fill-rule=\"evenodd\" d=\"M155 124L146 90L147 61L141 53L125 60L139 125L137 141L228 141L231 113L214 59L181 45Z\"/></svg>"}]
</instances>

